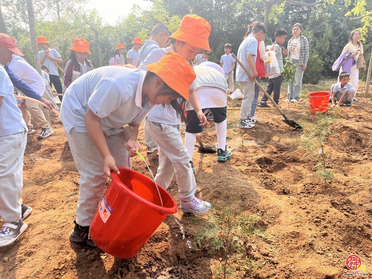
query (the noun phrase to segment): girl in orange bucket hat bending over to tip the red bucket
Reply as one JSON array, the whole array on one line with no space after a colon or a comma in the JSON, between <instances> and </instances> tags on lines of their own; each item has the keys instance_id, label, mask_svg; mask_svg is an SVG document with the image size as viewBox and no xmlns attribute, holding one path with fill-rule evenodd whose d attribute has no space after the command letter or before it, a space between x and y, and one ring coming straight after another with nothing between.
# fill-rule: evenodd
<instances>
[{"instance_id":1,"label":"girl in orange bucket hat bending over to tip the red bucket","mask_svg":"<svg viewBox=\"0 0 372 279\"><path fill-rule=\"evenodd\" d=\"M89 226L110 171L119 173L116 166L129 168L128 156L140 151L138 127L150 106L171 103L177 115L183 113L174 100L186 102L194 79L195 73L187 61L172 52L147 65L146 71L101 67L68 87L60 119L81 174L71 241L95 246L89 237Z\"/></svg>"}]
</instances>

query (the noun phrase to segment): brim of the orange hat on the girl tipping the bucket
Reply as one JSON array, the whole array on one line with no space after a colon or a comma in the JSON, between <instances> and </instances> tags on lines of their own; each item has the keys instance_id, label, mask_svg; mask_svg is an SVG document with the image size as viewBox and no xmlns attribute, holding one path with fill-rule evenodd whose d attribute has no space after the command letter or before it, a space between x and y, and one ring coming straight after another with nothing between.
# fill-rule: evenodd
<instances>
[{"instance_id":1,"label":"brim of the orange hat on the girl tipping the bucket","mask_svg":"<svg viewBox=\"0 0 372 279\"><path fill-rule=\"evenodd\" d=\"M148 64L145 66L147 70L157 74L168 86L179 93L182 97L189 100L189 86L180 81L180 79L173 75L169 70L164 68L159 63Z\"/></svg>"}]
</instances>

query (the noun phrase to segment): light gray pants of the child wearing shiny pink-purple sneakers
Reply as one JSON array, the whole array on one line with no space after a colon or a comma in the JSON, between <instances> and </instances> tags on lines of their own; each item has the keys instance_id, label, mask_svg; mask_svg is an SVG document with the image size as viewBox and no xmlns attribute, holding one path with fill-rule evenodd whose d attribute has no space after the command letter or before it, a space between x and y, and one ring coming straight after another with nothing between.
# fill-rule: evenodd
<instances>
[{"instance_id":1,"label":"light gray pants of the child wearing shiny pink-purple sneakers","mask_svg":"<svg viewBox=\"0 0 372 279\"><path fill-rule=\"evenodd\" d=\"M159 167L155 181L167 189L176 174L179 196L184 201L195 198L196 182L189 164L190 156L183 145L180 125L168 125L145 119L145 127L159 145Z\"/></svg>"}]
</instances>

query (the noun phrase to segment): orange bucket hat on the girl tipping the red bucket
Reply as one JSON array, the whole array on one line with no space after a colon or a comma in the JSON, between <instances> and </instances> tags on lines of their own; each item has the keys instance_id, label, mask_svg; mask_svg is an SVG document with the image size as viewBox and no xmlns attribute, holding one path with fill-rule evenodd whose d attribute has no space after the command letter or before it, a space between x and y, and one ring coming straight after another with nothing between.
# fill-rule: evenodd
<instances>
[{"instance_id":1,"label":"orange bucket hat on the girl tipping the red bucket","mask_svg":"<svg viewBox=\"0 0 372 279\"><path fill-rule=\"evenodd\" d=\"M189 100L189 87L196 78L194 70L181 55L169 52L158 62L146 65L147 70L157 74L168 86Z\"/></svg>"}]
</instances>

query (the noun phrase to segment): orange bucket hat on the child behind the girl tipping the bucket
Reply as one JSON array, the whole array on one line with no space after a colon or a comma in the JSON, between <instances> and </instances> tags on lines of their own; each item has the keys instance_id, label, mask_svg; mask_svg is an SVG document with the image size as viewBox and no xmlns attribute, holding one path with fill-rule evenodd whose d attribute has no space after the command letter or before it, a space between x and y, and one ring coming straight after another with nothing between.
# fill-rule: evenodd
<instances>
[{"instance_id":1,"label":"orange bucket hat on the child behind the girl tipping the bucket","mask_svg":"<svg viewBox=\"0 0 372 279\"><path fill-rule=\"evenodd\" d=\"M182 42L186 42L193 47L211 51L208 38L211 33L211 25L197 15L186 15L180 23L180 27L170 37Z\"/></svg>"}]
</instances>

